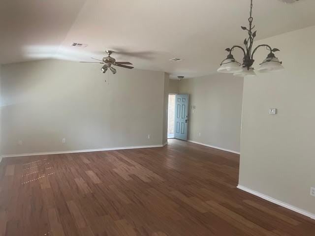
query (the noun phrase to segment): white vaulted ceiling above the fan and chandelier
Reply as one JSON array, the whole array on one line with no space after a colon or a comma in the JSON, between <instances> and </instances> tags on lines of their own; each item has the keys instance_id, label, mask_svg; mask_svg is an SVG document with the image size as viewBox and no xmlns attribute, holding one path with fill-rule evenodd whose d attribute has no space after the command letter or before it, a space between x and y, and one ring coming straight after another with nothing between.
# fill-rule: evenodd
<instances>
[{"instance_id":1,"label":"white vaulted ceiling above the fan and chandelier","mask_svg":"<svg viewBox=\"0 0 315 236\"><path fill-rule=\"evenodd\" d=\"M216 71L225 48L242 44L250 0L1 0L0 63L101 59L135 68L202 76ZM315 0L254 0L257 39L315 25ZM73 42L88 44L72 47ZM271 45L281 49L281 45ZM169 59L185 59L171 62ZM85 64L82 64L84 66Z\"/></svg>"}]
</instances>

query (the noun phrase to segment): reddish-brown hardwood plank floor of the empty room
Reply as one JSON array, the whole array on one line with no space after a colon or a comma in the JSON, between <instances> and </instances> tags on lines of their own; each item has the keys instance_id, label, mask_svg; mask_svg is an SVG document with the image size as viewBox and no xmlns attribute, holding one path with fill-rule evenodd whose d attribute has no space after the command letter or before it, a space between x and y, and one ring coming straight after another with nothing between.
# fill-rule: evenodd
<instances>
[{"instance_id":1,"label":"reddish-brown hardwood plank floor of the empty room","mask_svg":"<svg viewBox=\"0 0 315 236\"><path fill-rule=\"evenodd\" d=\"M178 140L6 158L0 236L315 236L315 221L237 189L238 166Z\"/></svg>"}]
</instances>

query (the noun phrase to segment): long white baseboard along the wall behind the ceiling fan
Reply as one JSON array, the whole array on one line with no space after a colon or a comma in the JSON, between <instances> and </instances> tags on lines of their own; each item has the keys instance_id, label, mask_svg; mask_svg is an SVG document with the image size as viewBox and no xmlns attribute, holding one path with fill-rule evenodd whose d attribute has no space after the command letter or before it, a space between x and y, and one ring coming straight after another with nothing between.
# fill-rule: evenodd
<instances>
[{"instance_id":1,"label":"long white baseboard along the wall behind the ceiling fan","mask_svg":"<svg viewBox=\"0 0 315 236\"><path fill-rule=\"evenodd\" d=\"M96 149L84 149L84 150L71 150L71 151L47 151L47 152L34 152L34 153L22 153L22 154L6 154L0 156L0 160L8 157L19 156L38 156L38 155L53 155L53 154L65 154L65 153L79 153L79 152L93 152L93 151L111 151L111 150L124 150L124 149L136 149L136 148L161 148L163 145L147 145L147 146L130 146L130 147L116 147L116 148L96 148Z\"/></svg>"}]
</instances>

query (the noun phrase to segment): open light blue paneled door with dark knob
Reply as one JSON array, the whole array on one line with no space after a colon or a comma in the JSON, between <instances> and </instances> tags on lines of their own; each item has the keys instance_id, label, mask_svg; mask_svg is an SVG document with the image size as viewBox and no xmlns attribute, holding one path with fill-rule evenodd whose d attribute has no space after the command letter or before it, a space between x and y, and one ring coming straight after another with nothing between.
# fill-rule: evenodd
<instances>
[{"instance_id":1,"label":"open light blue paneled door with dark knob","mask_svg":"<svg viewBox=\"0 0 315 236\"><path fill-rule=\"evenodd\" d=\"M188 94L175 96L174 138L187 141L188 135Z\"/></svg>"}]
</instances>

